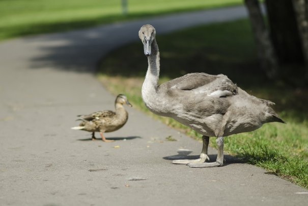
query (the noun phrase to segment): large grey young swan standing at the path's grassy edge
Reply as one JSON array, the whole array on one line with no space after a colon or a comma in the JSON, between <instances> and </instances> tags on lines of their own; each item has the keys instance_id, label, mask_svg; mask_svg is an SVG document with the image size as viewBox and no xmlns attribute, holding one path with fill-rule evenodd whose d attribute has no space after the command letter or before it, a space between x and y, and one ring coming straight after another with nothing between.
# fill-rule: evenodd
<instances>
[{"instance_id":1,"label":"large grey young swan standing at the path's grassy edge","mask_svg":"<svg viewBox=\"0 0 308 206\"><path fill-rule=\"evenodd\" d=\"M273 102L247 94L226 75L189 73L158 85L159 49L156 31L150 24L139 30L139 38L148 57L148 71L142 86L142 98L153 113L172 117L203 135L203 148L197 160L175 160L189 167L223 165L223 137L254 131L267 122L282 122L270 107ZM216 162L208 163L209 137L216 137Z\"/></svg>"}]
</instances>

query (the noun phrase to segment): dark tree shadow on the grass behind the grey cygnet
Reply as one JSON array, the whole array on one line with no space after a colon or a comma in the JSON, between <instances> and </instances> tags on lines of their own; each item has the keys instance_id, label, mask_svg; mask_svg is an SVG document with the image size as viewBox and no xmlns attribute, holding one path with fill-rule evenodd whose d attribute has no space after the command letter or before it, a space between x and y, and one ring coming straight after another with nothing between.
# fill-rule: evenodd
<instances>
[{"instance_id":1,"label":"dark tree shadow on the grass behind the grey cygnet","mask_svg":"<svg viewBox=\"0 0 308 206\"><path fill-rule=\"evenodd\" d=\"M282 118L290 117L298 122L306 120L308 87L300 81L303 67L291 65L282 69L284 78L268 80L259 67L249 27L247 20L237 20L157 35L160 79L174 79L192 72L222 73L247 93L275 102L274 110ZM109 76L144 78L147 67L142 43L136 42L101 59L99 72Z\"/></svg>"}]
</instances>

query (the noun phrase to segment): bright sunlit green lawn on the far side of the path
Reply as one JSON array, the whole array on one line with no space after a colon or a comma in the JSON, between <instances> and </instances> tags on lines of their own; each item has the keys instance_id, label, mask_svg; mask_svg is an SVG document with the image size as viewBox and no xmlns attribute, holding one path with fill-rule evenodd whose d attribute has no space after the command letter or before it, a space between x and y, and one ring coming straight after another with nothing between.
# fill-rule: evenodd
<instances>
[{"instance_id":1,"label":"bright sunlit green lawn on the far side of the path","mask_svg":"<svg viewBox=\"0 0 308 206\"><path fill-rule=\"evenodd\" d=\"M134 19L171 12L242 4L242 0L0 0L0 40Z\"/></svg>"}]
</instances>

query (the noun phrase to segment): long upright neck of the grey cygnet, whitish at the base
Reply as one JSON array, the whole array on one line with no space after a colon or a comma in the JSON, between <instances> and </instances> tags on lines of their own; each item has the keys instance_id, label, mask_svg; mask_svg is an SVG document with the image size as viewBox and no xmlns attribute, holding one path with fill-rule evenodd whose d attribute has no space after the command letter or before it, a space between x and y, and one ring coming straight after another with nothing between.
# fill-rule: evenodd
<instances>
[{"instance_id":1,"label":"long upright neck of the grey cygnet, whitish at the base","mask_svg":"<svg viewBox=\"0 0 308 206\"><path fill-rule=\"evenodd\" d=\"M146 105L154 99L157 94L158 78L159 78L159 50L156 40L152 42L152 53L148 57L148 71L142 86L142 97Z\"/></svg>"}]
</instances>

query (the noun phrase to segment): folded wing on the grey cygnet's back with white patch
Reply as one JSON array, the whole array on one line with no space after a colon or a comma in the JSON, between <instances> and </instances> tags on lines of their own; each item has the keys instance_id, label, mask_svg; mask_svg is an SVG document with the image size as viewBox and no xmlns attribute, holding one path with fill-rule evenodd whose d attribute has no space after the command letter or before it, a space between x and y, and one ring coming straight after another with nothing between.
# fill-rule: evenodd
<instances>
[{"instance_id":1,"label":"folded wing on the grey cygnet's back with white patch","mask_svg":"<svg viewBox=\"0 0 308 206\"><path fill-rule=\"evenodd\" d=\"M226 75L207 73L189 73L162 84L165 90L190 90L195 94L206 93L212 96L230 96L237 94L237 86Z\"/></svg>"}]
</instances>

